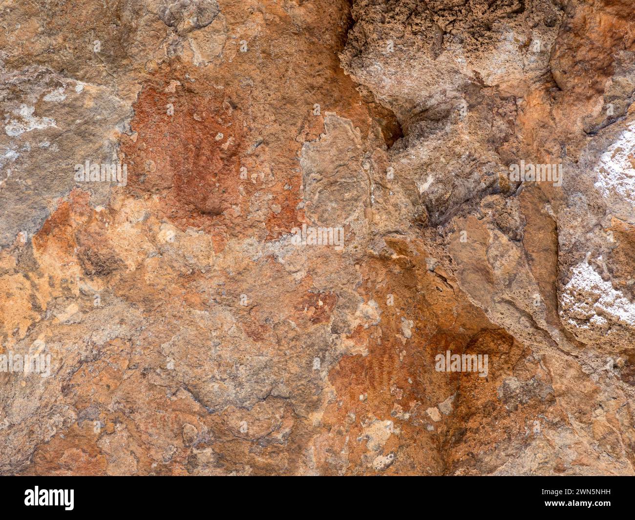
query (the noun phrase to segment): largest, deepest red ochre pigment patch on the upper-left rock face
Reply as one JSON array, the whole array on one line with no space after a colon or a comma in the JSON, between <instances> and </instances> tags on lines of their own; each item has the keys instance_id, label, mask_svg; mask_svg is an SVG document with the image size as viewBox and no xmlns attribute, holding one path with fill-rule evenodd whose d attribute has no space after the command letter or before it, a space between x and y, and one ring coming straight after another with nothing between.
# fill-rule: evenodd
<instances>
[{"instance_id":1,"label":"largest, deepest red ochre pigment patch on the upper-left rock face","mask_svg":"<svg viewBox=\"0 0 635 520\"><path fill-rule=\"evenodd\" d=\"M239 110L213 88L205 95L164 90L145 88L135 105L137 140L123 143L129 188L159 195L162 216L182 229L222 225L224 211L241 199Z\"/></svg>"}]
</instances>

